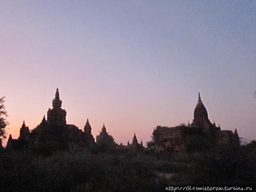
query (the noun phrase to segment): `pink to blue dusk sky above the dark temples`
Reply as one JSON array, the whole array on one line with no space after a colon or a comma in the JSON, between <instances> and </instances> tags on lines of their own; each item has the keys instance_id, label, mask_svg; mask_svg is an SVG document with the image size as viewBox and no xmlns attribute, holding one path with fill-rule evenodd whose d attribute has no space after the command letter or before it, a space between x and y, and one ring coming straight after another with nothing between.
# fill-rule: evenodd
<instances>
[{"instance_id":1,"label":"pink to blue dusk sky above the dark temples","mask_svg":"<svg viewBox=\"0 0 256 192\"><path fill-rule=\"evenodd\" d=\"M256 139L256 1L0 1L7 132L33 129L56 88L67 123L117 143L192 122ZM6 145L6 140L4 145Z\"/></svg>"}]
</instances>

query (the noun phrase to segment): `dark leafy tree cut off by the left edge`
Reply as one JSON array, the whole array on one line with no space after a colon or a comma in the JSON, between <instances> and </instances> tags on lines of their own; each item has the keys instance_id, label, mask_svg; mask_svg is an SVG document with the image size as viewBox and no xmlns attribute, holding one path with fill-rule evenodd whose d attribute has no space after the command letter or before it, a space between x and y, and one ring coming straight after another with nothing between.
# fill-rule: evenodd
<instances>
[{"instance_id":1,"label":"dark leafy tree cut off by the left edge","mask_svg":"<svg viewBox=\"0 0 256 192\"><path fill-rule=\"evenodd\" d=\"M4 105L5 97L0 97L0 147L2 146L3 139L6 139L6 126L9 122L6 120L8 117L6 106Z\"/></svg>"}]
</instances>

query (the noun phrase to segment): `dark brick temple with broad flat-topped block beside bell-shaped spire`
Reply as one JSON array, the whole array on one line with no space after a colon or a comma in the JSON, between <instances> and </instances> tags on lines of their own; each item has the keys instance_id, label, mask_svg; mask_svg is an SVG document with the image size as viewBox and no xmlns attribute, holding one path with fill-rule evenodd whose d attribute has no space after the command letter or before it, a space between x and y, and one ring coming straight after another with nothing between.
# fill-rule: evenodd
<instances>
[{"instance_id":1,"label":"dark brick temple with broad flat-topped block beside bell-shaped spire","mask_svg":"<svg viewBox=\"0 0 256 192\"><path fill-rule=\"evenodd\" d=\"M236 148L239 146L237 129L233 133L220 130L215 122L211 123L208 113L198 94L198 104L194 111L194 120L188 125L176 127L157 126L153 131L156 152L186 152L193 150L217 149L223 147Z\"/></svg>"}]
</instances>

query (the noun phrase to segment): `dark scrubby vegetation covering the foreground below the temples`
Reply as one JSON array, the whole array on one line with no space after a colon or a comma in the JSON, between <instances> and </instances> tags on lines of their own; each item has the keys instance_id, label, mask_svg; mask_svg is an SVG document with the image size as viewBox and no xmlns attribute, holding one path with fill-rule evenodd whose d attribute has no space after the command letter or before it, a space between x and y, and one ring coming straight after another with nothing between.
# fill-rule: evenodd
<instances>
[{"instance_id":1,"label":"dark scrubby vegetation covering the foreground below the temples","mask_svg":"<svg viewBox=\"0 0 256 192\"><path fill-rule=\"evenodd\" d=\"M0 149L0 190L5 192L157 192L165 184L255 183L256 142L238 152L175 155Z\"/></svg>"}]
</instances>

